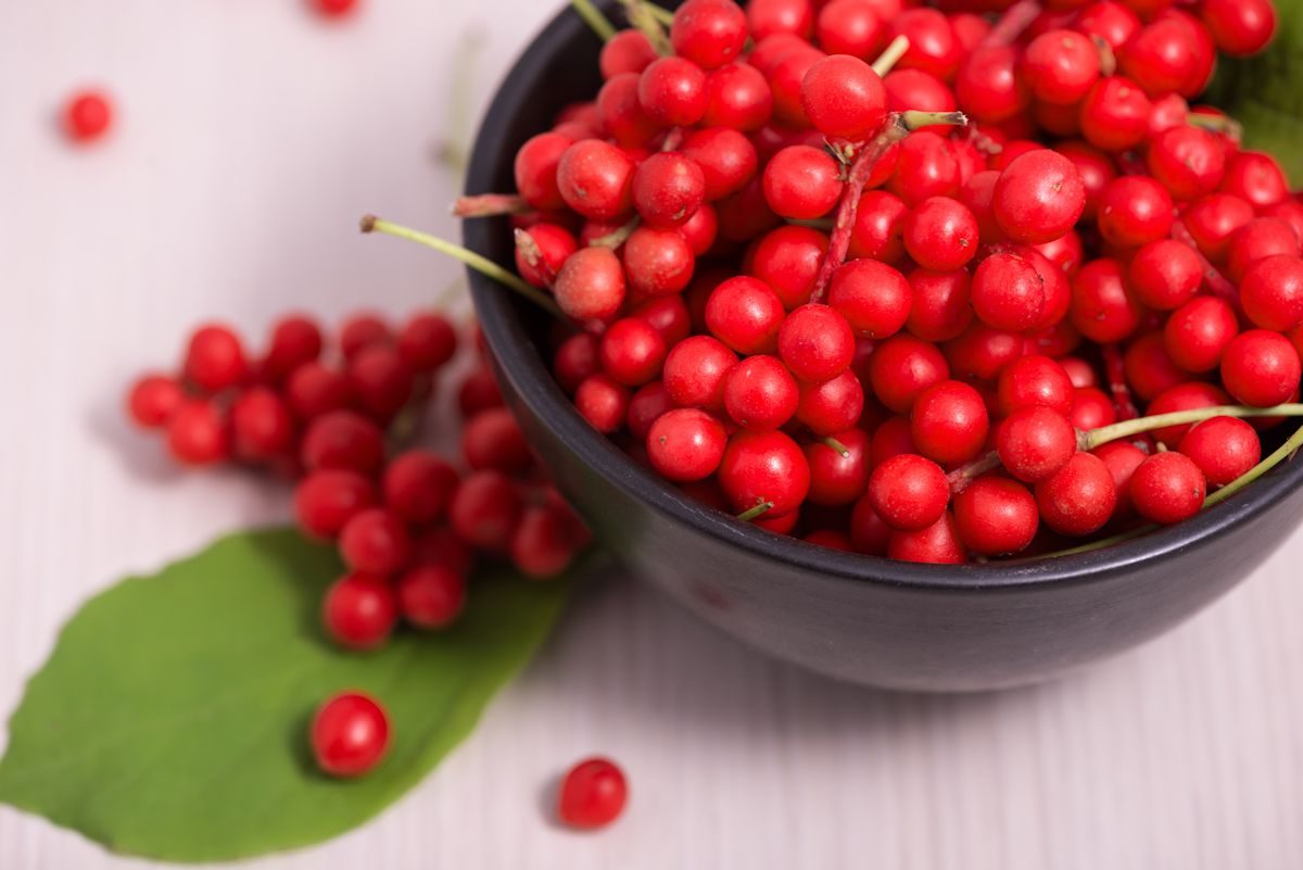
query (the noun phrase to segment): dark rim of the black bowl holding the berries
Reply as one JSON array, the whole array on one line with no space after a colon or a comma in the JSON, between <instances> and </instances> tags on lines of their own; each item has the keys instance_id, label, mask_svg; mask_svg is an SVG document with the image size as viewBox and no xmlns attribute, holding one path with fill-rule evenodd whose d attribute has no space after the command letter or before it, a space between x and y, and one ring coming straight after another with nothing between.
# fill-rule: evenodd
<instances>
[{"instance_id":1,"label":"dark rim of the black bowl holding the berries","mask_svg":"<svg viewBox=\"0 0 1303 870\"><path fill-rule=\"evenodd\" d=\"M466 173L468 194L493 193L500 161L512 160L515 155L515 143L509 138L511 119L525 104L528 91L546 74L555 56L573 51L572 43L585 33L590 33L588 25L564 8L516 59L498 86L476 135ZM597 59L593 60L595 63ZM494 233L500 232L498 228L502 224L503 219L463 221L465 246L493 258ZM516 313L516 306L523 302L491 279L470 268L466 271L480 328L496 358L500 375L532 413L582 456L593 471L625 495L700 534L756 557L778 560L829 578L934 591L1059 587L1101 581L1179 550L1214 546L1221 537L1259 517L1303 483L1303 462L1291 457L1240 492L1190 520L1100 550L1050 559L1032 556L985 564L933 565L820 547L740 522L667 486L635 462L580 417L562 392Z\"/></svg>"}]
</instances>

